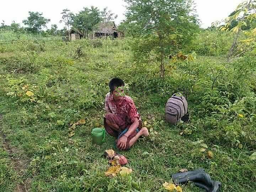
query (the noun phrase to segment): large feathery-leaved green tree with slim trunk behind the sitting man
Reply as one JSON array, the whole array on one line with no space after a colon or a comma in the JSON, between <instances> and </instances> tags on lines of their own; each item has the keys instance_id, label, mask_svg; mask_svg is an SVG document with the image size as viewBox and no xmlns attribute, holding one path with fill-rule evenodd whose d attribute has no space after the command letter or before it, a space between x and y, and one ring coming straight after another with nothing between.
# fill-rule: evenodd
<instances>
[{"instance_id":1,"label":"large feathery-leaved green tree with slim trunk behind the sitting man","mask_svg":"<svg viewBox=\"0 0 256 192\"><path fill-rule=\"evenodd\" d=\"M197 26L192 0L124 0L127 23L134 28L137 54L148 57L154 50L160 60L160 76L164 77L164 60L188 43Z\"/></svg>"}]
</instances>

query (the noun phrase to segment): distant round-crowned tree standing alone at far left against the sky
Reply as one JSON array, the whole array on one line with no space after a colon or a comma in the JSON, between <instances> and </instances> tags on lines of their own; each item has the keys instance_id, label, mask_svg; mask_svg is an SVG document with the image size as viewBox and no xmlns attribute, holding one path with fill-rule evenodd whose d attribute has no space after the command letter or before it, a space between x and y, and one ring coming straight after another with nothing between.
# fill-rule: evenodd
<instances>
[{"instance_id":1,"label":"distant round-crowned tree standing alone at far left against the sky","mask_svg":"<svg viewBox=\"0 0 256 192\"><path fill-rule=\"evenodd\" d=\"M29 29L34 33L41 31L42 27L46 27L46 24L50 21L50 19L44 18L42 16L43 14L39 12L29 11L28 14L30 16L27 20L23 20L22 22L28 25Z\"/></svg>"}]
</instances>

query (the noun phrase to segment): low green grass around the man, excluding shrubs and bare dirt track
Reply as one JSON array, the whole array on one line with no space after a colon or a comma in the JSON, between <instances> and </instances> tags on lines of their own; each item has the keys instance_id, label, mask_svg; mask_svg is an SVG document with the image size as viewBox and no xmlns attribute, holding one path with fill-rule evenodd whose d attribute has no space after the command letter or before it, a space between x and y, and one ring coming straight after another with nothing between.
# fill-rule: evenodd
<instances>
[{"instance_id":1,"label":"low green grass around the man, excluding shrubs and bare dirt track","mask_svg":"<svg viewBox=\"0 0 256 192\"><path fill-rule=\"evenodd\" d=\"M78 46L81 46L84 54L74 59ZM190 124L170 126L164 121L165 102L172 91L180 86L179 83L189 88L190 77L195 80L208 78L210 74L200 71L203 66L207 63L212 66L223 65L224 58L197 58L195 63L199 66L199 72L196 74L195 69L193 76L181 73L181 66L167 69L166 81L163 83L157 76L158 66L154 63L134 65L126 46L125 40L104 41L102 47L96 48L87 41L45 43L44 50L15 58L12 53L32 53L33 50L24 43L19 49L13 48L16 52L10 49L11 53L0 55L0 60L4 61L0 66L1 130L10 145L24 151L30 159L28 170L22 176L23 181L32 179L30 190L165 191L162 184L171 182L172 174L182 168L193 170L202 167L213 180L222 182L223 191L253 191L256 188L256 165L249 156L256 149L255 140L251 140L249 145L247 140L240 139L244 142L242 149L235 144L232 146L233 140L222 141L225 136L222 135L223 130L214 127L214 114L212 117L207 111L205 114L198 113L200 102L197 98L205 85L196 87L188 97ZM55 62L56 57L63 61L62 66L60 62ZM74 65L66 64L66 58L73 60ZM22 65L17 65L17 61ZM21 66L20 73L14 71ZM44 102L22 102L19 97L7 96L7 92L10 92L7 74L15 79L23 76L30 86L35 84L41 87ZM114 138L109 135L101 146L91 143L92 128L103 127L107 84L114 76L130 84L127 94L133 98L143 121L153 128L149 138L139 139L129 151L118 151L114 146ZM220 82L216 86L220 86ZM164 87L171 93L161 94ZM140 92L142 89L148 91L144 96ZM36 94L39 92L37 88L33 91ZM48 114L51 112L56 117L50 118ZM208 119L210 117L212 122ZM79 119L85 119L86 124L77 126L75 135L69 138L69 123ZM58 125L57 120L64 121L64 126ZM192 134L181 135L181 130L184 132L185 128L191 129ZM251 136L255 138L255 133L252 132ZM205 153L198 151L201 146L193 144L200 139L208 146ZM128 167L133 169L130 177L105 177L107 160L102 155L106 149L114 149L128 158ZM208 150L213 151L212 159L207 157ZM143 155L145 151L149 154ZM10 166L11 159L4 149L1 149L0 156L0 191L10 191L21 180L18 180L17 173ZM185 192L202 191L192 183L182 188Z\"/></svg>"}]
</instances>

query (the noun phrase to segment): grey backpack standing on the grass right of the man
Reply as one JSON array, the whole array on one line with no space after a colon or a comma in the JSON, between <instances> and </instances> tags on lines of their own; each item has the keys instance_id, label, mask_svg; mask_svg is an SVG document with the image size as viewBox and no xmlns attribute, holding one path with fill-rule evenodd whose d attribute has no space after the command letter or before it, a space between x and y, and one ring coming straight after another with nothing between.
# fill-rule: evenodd
<instances>
[{"instance_id":1,"label":"grey backpack standing on the grass right of the man","mask_svg":"<svg viewBox=\"0 0 256 192\"><path fill-rule=\"evenodd\" d=\"M171 124L177 124L177 122L179 122L181 118L187 114L187 111L188 103L186 98L174 94L167 100L165 104L165 121Z\"/></svg>"}]
</instances>

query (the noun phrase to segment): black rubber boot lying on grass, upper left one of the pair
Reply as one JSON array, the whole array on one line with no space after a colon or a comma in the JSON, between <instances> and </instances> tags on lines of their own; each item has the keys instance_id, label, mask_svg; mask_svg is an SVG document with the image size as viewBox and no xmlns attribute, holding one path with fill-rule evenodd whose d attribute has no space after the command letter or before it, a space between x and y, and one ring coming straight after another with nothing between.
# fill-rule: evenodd
<instances>
[{"instance_id":1,"label":"black rubber boot lying on grass, upper left one of the pair","mask_svg":"<svg viewBox=\"0 0 256 192\"><path fill-rule=\"evenodd\" d=\"M172 175L172 179L175 183L187 183L188 181L193 181L197 183L202 183L205 186L212 186L212 181L209 174L204 172L203 169L199 168L194 171L187 171L183 173L177 173Z\"/></svg>"}]
</instances>

